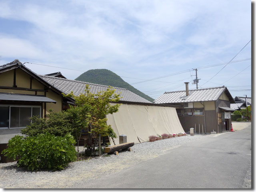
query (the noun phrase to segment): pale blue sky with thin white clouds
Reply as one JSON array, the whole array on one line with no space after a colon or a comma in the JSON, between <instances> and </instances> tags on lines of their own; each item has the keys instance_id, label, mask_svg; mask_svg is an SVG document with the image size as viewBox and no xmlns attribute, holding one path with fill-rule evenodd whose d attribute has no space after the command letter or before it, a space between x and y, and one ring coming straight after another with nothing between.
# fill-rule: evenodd
<instances>
[{"instance_id":1,"label":"pale blue sky with thin white clouds","mask_svg":"<svg viewBox=\"0 0 256 192\"><path fill-rule=\"evenodd\" d=\"M25 64L69 79L106 68L154 99L184 82L196 88L198 68L199 88L251 96L251 42L221 70L251 40L249 0L0 0L0 24L0 65L80 70ZM202 68L214 64L222 65Z\"/></svg>"}]
</instances>

